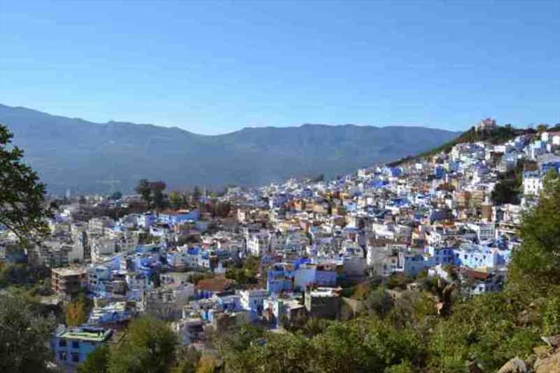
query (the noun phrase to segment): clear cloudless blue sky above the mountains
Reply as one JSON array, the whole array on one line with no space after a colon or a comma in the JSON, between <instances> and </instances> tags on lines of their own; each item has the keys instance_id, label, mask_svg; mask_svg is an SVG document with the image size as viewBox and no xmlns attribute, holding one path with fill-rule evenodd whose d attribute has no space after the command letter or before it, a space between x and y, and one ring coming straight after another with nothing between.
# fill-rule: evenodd
<instances>
[{"instance_id":1,"label":"clear cloudless blue sky above the mountains","mask_svg":"<svg viewBox=\"0 0 560 373\"><path fill-rule=\"evenodd\" d=\"M560 122L560 1L0 1L0 102L218 134Z\"/></svg>"}]
</instances>

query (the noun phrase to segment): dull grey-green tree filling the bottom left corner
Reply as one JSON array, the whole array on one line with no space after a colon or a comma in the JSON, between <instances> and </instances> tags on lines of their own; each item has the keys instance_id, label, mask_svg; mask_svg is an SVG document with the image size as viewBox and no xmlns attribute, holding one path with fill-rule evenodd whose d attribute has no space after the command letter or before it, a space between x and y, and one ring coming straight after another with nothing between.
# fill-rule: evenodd
<instances>
[{"instance_id":1,"label":"dull grey-green tree filling the bottom left corner","mask_svg":"<svg viewBox=\"0 0 560 373\"><path fill-rule=\"evenodd\" d=\"M55 319L19 295L0 293L0 372L48 372Z\"/></svg>"}]
</instances>

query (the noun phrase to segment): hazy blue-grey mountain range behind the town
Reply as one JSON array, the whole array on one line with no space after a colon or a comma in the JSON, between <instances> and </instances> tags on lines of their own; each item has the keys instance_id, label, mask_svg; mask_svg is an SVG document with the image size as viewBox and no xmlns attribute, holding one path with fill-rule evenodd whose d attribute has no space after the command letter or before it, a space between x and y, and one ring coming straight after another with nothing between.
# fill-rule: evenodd
<instances>
[{"instance_id":1,"label":"hazy blue-grey mountain range behind the town","mask_svg":"<svg viewBox=\"0 0 560 373\"><path fill-rule=\"evenodd\" d=\"M458 136L426 127L310 124L208 136L177 127L88 122L2 104L0 123L13 132L13 143L53 193L130 192L141 178L179 189L335 176Z\"/></svg>"}]
</instances>

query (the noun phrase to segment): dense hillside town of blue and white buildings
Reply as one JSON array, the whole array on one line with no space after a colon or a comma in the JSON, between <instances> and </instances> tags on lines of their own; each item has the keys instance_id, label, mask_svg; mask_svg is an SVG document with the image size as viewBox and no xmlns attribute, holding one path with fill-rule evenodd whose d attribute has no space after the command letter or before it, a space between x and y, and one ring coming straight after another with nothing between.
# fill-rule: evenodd
<instances>
[{"instance_id":1,"label":"dense hillside town of blue and white buildings","mask_svg":"<svg viewBox=\"0 0 560 373\"><path fill-rule=\"evenodd\" d=\"M486 118L474 130L500 127ZM451 290L503 289L521 217L545 175L560 172L560 128L494 142L219 194L165 195L165 184L151 194L148 181L144 195L68 193L52 204L47 240L21 251L1 231L0 260L48 267L41 302L52 309L85 298L83 320L52 335L69 371L143 314L204 353L211 333L241 325L282 333L309 318L349 320L366 307L356 290L368 283L396 300L433 279L445 314Z\"/></svg>"}]
</instances>

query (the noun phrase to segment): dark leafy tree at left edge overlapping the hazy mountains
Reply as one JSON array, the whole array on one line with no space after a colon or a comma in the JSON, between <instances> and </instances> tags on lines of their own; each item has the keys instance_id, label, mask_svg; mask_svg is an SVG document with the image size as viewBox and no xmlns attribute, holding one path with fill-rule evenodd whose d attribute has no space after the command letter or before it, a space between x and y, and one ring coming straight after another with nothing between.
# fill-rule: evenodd
<instances>
[{"instance_id":1,"label":"dark leafy tree at left edge overlapping the hazy mountains","mask_svg":"<svg viewBox=\"0 0 560 373\"><path fill-rule=\"evenodd\" d=\"M12 137L0 125L0 225L27 244L48 234L44 218L51 213L45 204L45 185L22 163L23 151L11 145Z\"/></svg>"}]
</instances>

